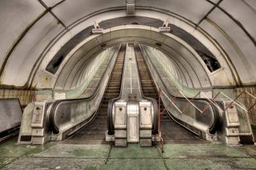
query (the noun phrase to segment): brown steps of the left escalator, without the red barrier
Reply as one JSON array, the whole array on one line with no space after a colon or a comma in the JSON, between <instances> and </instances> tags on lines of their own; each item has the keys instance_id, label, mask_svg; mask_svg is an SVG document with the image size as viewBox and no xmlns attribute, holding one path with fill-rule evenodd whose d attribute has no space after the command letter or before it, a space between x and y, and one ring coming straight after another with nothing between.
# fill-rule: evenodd
<instances>
[{"instance_id":1,"label":"brown steps of the left escalator, without the red barrier","mask_svg":"<svg viewBox=\"0 0 256 170\"><path fill-rule=\"evenodd\" d=\"M106 143L105 134L108 129L107 112L108 103L112 98L116 98L120 93L122 82L122 72L124 66L125 45L122 45L115 61L115 66L111 72L108 86L100 103L95 118L88 125L81 128L76 134L70 136L63 143Z\"/></svg>"}]
</instances>

